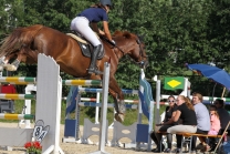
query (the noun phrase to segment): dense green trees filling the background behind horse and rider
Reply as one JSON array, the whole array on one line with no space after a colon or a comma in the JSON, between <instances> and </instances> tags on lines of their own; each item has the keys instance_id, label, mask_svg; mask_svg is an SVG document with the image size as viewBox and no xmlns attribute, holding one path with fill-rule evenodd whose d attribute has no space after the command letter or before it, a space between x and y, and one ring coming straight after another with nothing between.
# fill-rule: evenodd
<instances>
[{"instance_id":1,"label":"dense green trees filling the background behind horse and rider","mask_svg":"<svg viewBox=\"0 0 230 154\"><path fill-rule=\"evenodd\" d=\"M2 0L0 34L10 33L15 27L31 24L44 24L70 32L71 20L94 2ZM215 62L230 71L228 0L114 0L113 3L114 9L108 13L109 29L112 33L121 30L142 35L149 59L147 79L154 75L159 79L165 75L187 75L185 63ZM6 11L9 6L10 10ZM121 60L116 79L122 88L138 89L138 75L139 68L135 63L127 62L127 58ZM207 80L200 82L200 78L192 76L190 80L200 84L195 90L209 84ZM210 95L210 89L207 95Z\"/></svg>"}]
</instances>

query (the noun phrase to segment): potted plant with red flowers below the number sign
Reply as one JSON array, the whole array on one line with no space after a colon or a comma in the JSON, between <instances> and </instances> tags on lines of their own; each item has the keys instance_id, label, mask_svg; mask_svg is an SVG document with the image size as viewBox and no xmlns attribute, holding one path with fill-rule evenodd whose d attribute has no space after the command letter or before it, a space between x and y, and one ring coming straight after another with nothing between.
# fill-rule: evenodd
<instances>
[{"instance_id":1,"label":"potted plant with red flowers below the number sign","mask_svg":"<svg viewBox=\"0 0 230 154\"><path fill-rule=\"evenodd\" d=\"M27 148L28 154L41 154L42 153L42 146L40 142L27 142L24 144L24 147Z\"/></svg>"}]
</instances>

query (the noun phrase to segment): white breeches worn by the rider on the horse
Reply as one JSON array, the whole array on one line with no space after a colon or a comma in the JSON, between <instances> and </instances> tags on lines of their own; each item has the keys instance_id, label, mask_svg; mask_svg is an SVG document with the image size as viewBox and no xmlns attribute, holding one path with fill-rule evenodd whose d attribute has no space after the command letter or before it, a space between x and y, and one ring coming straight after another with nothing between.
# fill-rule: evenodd
<instances>
[{"instance_id":1,"label":"white breeches worn by the rider on the horse","mask_svg":"<svg viewBox=\"0 0 230 154\"><path fill-rule=\"evenodd\" d=\"M95 32L91 29L88 20L84 17L74 18L71 22L71 30L80 32L94 47L102 44Z\"/></svg>"}]
</instances>

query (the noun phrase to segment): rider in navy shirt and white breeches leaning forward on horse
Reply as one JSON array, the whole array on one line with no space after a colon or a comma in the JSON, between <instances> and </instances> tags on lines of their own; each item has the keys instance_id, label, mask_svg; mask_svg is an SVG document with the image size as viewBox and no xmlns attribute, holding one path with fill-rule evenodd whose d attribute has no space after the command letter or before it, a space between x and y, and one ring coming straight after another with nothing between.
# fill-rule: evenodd
<instances>
[{"instance_id":1,"label":"rider in navy shirt and white breeches leaning forward on horse","mask_svg":"<svg viewBox=\"0 0 230 154\"><path fill-rule=\"evenodd\" d=\"M115 41L112 40L111 32L108 29L108 17L107 13L112 7L111 0L100 0L98 4L94 4L88 9L85 9L71 22L71 30L80 32L86 40L88 40L93 47L93 54L91 55L91 64L88 68L88 73L102 73L96 69L96 59L102 49L102 43L97 39L96 33L106 35L107 39L115 45ZM97 22L103 21L104 31L97 28ZM92 25L92 29L90 27Z\"/></svg>"}]
</instances>

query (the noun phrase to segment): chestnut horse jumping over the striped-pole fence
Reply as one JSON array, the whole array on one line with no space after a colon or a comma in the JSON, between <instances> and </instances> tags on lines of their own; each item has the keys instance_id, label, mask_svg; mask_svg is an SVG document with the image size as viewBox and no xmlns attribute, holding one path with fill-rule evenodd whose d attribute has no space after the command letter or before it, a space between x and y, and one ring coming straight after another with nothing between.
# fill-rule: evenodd
<instances>
[{"instance_id":1,"label":"chestnut horse jumping over the striped-pole fence","mask_svg":"<svg viewBox=\"0 0 230 154\"><path fill-rule=\"evenodd\" d=\"M138 35L127 31L117 31L114 33L113 40L116 42L115 47L105 39L101 39L105 53L101 60L97 60L97 68L103 71L104 63L111 63L108 92L114 99L115 119L123 122L126 111L124 94L114 76L119 59L127 54L144 69L148 64L148 59L145 44ZM7 70L17 71L20 62L38 63L39 53L52 57L60 65L61 71L75 78L103 79L102 74L87 73L91 59L83 55L75 39L42 24L17 28L9 37L6 37L0 47L0 65ZM14 61L10 63L12 60Z\"/></svg>"}]
</instances>

